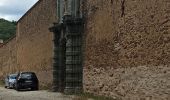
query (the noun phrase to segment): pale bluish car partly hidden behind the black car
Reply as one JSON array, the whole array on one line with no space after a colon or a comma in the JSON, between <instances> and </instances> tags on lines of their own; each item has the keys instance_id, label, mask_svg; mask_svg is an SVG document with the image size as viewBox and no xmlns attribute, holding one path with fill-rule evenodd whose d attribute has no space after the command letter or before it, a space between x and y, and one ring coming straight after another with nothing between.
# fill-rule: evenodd
<instances>
[{"instance_id":1,"label":"pale bluish car partly hidden behind the black car","mask_svg":"<svg viewBox=\"0 0 170 100\"><path fill-rule=\"evenodd\" d=\"M14 88L17 74L7 75L5 78L5 88Z\"/></svg>"}]
</instances>

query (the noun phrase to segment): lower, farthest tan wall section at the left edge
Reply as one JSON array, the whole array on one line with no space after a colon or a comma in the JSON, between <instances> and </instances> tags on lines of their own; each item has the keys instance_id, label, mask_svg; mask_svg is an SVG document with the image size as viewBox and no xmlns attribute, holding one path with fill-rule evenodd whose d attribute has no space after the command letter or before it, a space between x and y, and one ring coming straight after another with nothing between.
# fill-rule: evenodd
<instances>
[{"instance_id":1,"label":"lower, farthest tan wall section at the left edge","mask_svg":"<svg viewBox=\"0 0 170 100\"><path fill-rule=\"evenodd\" d=\"M13 37L0 47L0 79L16 71L16 38Z\"/></svg>"}]
</instances>

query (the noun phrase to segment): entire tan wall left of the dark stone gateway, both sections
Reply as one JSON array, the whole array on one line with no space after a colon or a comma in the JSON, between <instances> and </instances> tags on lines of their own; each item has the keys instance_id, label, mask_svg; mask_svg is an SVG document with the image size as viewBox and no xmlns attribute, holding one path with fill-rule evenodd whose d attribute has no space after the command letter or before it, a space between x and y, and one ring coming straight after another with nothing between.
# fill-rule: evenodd
<instances>
[{"instance_id":1,"label":"entire tan wall left of the dark stone gateway, both sections","mask_svg":"<svg viewBox=\"0 0 170 100\"><path fill-rule=\"evenodd\" d=\"M19 71L33 71L40 86L52 85L53 33L56 0L40 0L17 23L16 37L0 48L0 78Z\"/></svg>"}]
</instances>

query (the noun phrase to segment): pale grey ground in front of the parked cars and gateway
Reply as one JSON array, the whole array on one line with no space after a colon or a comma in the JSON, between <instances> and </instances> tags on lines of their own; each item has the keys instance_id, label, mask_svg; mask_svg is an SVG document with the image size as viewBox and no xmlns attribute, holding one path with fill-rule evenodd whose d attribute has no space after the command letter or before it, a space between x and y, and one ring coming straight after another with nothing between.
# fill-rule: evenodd
<instances>
[{"instance_id":1,"label":"pale grey ground in front of the parked cars and gateway","mask_svg":"<svg viewBox=\"0 0 170 100\"><path fill-rule=\"evenodd\" d=\"M74 96L66 96L60 93L39 91L16 91L0 87L0 100L75 100Z\"/></svg>"}]
</instances>

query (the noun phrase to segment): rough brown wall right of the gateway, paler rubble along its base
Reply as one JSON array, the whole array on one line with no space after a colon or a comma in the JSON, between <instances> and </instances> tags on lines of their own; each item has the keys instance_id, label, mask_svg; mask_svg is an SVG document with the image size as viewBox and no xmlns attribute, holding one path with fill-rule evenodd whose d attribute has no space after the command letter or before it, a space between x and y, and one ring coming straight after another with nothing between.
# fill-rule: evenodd
<instances>
[{"instance_id":1,"label":"rough brown wall right of the gateway, paler rubble along its base","mask_svg":"<svg viewBox=\"0 0 170 100\"><path fill-rule=\"evenodd\" d=\"M84 90L170 99L170 1L86 0Z\"/></svg>"}]
</instances>

